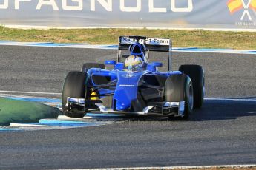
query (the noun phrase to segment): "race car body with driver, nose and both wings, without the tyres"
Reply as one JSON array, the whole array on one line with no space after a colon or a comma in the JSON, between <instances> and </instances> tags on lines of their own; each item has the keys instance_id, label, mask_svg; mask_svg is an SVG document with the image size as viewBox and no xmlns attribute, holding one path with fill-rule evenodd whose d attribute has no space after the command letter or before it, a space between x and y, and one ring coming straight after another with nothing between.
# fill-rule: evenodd
<instances>
[{"instance_id":1,"label":"race car body with driver, nose and both wings, without the tyres","mask_svg":"<svg viewBox=\"0 0 256 170\"><path fill-rule=\"evenodd\" d=\"M122 55L122 50L129 55ZM168 72L159 72L160 62L148 62L149 51L168 52ZM126 58L125 63L121 58ZM85 71L85 98L70 98L68 110L85 112L167 114L177 112L179 101L165 100L165 82L170 75L183 74L171 71L171 40L145 38L140 36L119 37L119 51L116 61L105 61L112 70L88 68ZM70 96L72 97L72 96ZM175 110L174 110L175 109Z\"/></svg>"}]
</instances>

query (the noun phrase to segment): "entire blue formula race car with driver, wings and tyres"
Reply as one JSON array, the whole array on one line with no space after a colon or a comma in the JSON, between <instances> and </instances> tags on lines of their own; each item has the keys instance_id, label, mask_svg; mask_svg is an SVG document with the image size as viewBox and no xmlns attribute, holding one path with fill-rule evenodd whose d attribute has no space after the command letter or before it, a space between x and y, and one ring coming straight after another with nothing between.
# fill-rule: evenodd
<instances>
[{"instance_id":1,"label":"entire blue formula race car with driver, wings and tyres","mask_svg":"<svg viewBox=\"0 0 256 170\"><path fill-rule=\"evenodd\" d=\"M198 65L171 71L171 49L170 39L119 37L116 61L86 63L81 72L68 73L62 90L63 112L71 118L112 113L187 119L203 105L204 72ZM128 55L122 55L124 51ZM167 72L158 71L162 63L148 62L149 52L168 52Z\"/></svg>"}]
</instances>

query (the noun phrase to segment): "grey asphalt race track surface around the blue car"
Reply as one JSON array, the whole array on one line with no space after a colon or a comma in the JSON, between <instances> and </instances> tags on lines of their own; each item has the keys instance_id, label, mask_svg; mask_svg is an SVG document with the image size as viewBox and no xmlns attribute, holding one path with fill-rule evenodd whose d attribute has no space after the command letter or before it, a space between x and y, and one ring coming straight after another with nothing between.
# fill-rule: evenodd
<instances>
[{"instance_id":1,"label":"grey asphalt race track surface around the blue car","mask_svg":"<svg viewBox=\"0 0 256 170\"><path fill-rule=\"evenodd\" d=\"M0 46L0 89L59 93L70 70L115 56L114 50ZM151 56L151 61L165 59ZM256 98L256 55L174 52L174 69L180 64L204 67L207 98ZM255 164L256 102L209 100L188 121L135 118L106 126L3 132L0 152L0 169Z\"/></svg>"}]
</instances>

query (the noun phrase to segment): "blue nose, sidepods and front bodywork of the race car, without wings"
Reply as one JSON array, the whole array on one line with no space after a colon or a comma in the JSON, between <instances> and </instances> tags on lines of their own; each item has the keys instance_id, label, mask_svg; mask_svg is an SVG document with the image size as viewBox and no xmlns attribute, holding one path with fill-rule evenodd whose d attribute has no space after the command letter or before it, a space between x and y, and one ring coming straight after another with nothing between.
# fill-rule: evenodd
<instances>
[{"instance_id":1,"label":"blue nose, sidepods and front bodywork of the race car, without wings","mask_svg":"<svg viewBox=\"0 0 256 170\"><path fill-rule=\"evenodd\" d=\"M106 61L105 63L111 63ZM88 80L92 88L96 88L99 99L105 98L105 95L113 95L112 108L114 111L128 112L131 109L132 101L137 100L137 92L140 86L140 81L145 75L163 75L168 77L173 74L182 74L182 72L158 72L157 66L162 66L161 63L148 64L147 69L142 72L128 72L123 70L123 63L117 63L113 70L106 69L88 69ZM101 78L108 77L108 84L96 84L93 81L93 76ZM111 88L109 88L111 86ZM99 88L97 88L99 87Z\"/></svg>"}]
</instances>

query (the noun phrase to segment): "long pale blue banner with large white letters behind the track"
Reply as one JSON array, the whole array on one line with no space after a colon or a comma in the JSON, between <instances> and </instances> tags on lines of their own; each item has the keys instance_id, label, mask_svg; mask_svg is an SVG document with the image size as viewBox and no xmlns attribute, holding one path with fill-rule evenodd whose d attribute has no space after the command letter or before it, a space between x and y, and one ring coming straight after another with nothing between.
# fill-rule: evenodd
<instances>
[{"instance_id":1,"label":"long pale blue banner with large white letters behind the track","mask_svg":"<svg viewBox=\"0 0 256 170\"><path fill-rule=\"evenodd\" d=\"M256 0L0 0L0 24L256 29Z\"/></svg>"}]
</instances>

